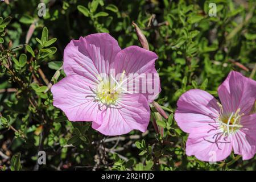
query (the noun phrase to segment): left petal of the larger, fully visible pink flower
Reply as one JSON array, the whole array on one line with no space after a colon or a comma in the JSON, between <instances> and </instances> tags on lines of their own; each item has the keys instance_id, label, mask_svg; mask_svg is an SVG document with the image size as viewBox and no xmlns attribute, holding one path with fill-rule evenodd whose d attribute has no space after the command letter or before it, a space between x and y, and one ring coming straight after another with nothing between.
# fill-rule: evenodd
<instances>
[{"instance_id":1,"label":"left petal of the larger, fully visible pink flower","mask_svg":"<svg viewBox=\"0 0 256 182\"><path fill-rule=\"evenodd\" d=\"M96 85L88 78L72 75L51 88L53 105L63 110L69 121L96 121L101 123L101 110L94 101Z\"/></svg>"}]
</instances>

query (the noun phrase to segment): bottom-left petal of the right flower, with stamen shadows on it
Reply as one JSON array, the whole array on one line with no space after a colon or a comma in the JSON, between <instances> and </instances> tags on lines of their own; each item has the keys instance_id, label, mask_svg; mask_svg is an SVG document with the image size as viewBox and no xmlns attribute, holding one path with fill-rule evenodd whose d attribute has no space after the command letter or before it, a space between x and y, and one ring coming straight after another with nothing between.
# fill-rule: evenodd
<instances>
[{"instance_id":1,"label":"bottom-left petal of the right flower, with stamen shadows on it","mask_svg":"<svg viewBox=\"0 0 256 182\"><path fill-rule=\"evenodd\" d=\"M217 126L218 124L216 124ZM213 125L214 126L214 125ZM216 142L216 137L218 138ZM230 138L221 135L221 131L212 126L200 127L188 136L186 154L195 155L205 162L217 162L227 158L232 151Z\"/></svg>"}]
</instances>

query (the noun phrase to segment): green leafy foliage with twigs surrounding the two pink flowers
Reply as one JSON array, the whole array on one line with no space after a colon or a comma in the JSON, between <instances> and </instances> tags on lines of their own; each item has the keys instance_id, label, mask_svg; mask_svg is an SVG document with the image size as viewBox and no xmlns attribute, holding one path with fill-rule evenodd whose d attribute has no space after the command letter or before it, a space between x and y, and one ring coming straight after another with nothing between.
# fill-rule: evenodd
<instances>
[{"instance_id":1,"label":"green leafy foliage with twigs surrounding the two pink flowers","mask_svg":"<svg viewBox=\"0 0 256 182\"><path fill-rule=\"evenodd\" d=\"M39 17L38 5L46 5ZM217 16L209 16L209 3ZM58 1L0 2L0 168L2 170L226 170L255 169L240 156L216 164L185 155L187 134L173 119L176 101L192 88L217 97L231 70L255 80L255 1ZM63 78L63 51L71 39L109 32L119 46L140 46L131 23L146 35L162 92L146 133L105 137L90 123L71 123L53 107L49 88ZM156 132L159 131L159 132ZM46 151L46 165L37 164Z\"/></svg>"}]
</instances>

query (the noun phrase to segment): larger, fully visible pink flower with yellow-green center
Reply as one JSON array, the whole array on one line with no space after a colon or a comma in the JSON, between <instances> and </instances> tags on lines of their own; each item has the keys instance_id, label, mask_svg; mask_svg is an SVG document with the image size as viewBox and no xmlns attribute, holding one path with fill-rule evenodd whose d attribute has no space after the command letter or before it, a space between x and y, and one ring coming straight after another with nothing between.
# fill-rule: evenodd
<instances>
[{"instance_id":1,"label":"larger, fully visible pink flower with yellow-green center","mask_svg":"<svg viewBox=\"0 0 256 182\"><path fill-rule=\"evenodd\" d=\"M51 89L53 105L69 121L92 121L93 129L105 135L144 132L150 121L148 103L160 92L157 58L138 46L121 49L109 34L72 40L64 51L67 77ZM154 85L154 92L144 92L145 83Z\"/></svg>"}]
</instances>

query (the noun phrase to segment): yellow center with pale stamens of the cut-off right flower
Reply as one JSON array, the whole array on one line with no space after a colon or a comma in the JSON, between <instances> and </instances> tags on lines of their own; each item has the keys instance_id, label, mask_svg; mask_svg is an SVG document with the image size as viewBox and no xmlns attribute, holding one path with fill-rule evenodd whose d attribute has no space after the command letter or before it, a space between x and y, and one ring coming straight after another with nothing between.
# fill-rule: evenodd
<instances>
[{"instance_id":1,"label":"yellow center with pale stamens of the cut-off right flower","mask_svg":"<svg viewBox=\"0 0 256 182\"><path fill-rule=\"evenodd\" d=\"M236 113L232 112L229 114L224 114L223 107L220 106L220 117L218 118L218 122L220 123L220 128L223 133L226 135L233 134L237 130L240 130L242 125L240 124L241 117L243 114L240 114L241 109L237 109Z\"/></svg>"}]
</instances>

